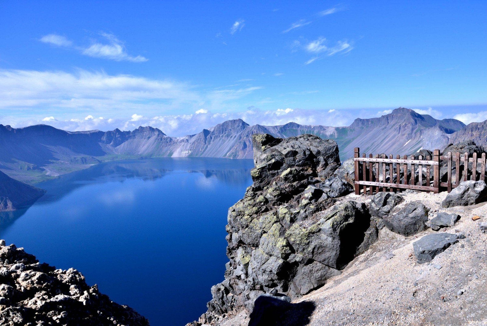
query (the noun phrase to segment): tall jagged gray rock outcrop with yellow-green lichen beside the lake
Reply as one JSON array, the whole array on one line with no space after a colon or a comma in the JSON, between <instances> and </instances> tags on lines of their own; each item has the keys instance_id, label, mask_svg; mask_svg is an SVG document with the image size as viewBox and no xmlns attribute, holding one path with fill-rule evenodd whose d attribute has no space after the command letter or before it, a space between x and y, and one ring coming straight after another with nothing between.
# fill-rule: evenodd
<instances>
[{"instance_id":1,"label":"tall jagged gray rock outcrop with yellow-green lichen beside the lake","mask_svg":"<svg viewBox=\"0 0 487 326\"><path fill-rule=\"evenodd\" d=\"M377 239L376 220L363 203L342 202L317 214L350 186L340 181L344 173L336 173L335 141L260 134L253 146L254 183L228 211L225 281L211 288L213 299L199 323L218 325L223 315L252 311L265 293L299 298Z\"/></svg>"}]
</instances>

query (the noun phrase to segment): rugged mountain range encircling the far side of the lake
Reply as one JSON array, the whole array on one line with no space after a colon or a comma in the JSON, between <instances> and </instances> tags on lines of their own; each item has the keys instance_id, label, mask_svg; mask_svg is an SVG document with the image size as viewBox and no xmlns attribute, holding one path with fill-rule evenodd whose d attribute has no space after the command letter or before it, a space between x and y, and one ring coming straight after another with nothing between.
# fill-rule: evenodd
<instances>
[{"instance_id":1,"label":"rugged mountain range encircling the far side of the lake","mask_svg":"<svg viewBox=\"0 0 487 326\"><path fill-rule=\"evenodd\" d=\"M170 137L153 127L133 131L65 131L47 125L12 128L0 125L0 170L12 178L38 182L104 161L147 157L253 157L252 134L287 138L313 134L334 139L340 159L363 153L411 154L422 148L443 149L449 143L473 139L487 145L487 121L465 126L455 119L434 119L398 108L372 119L356 119L348 127L250 126L229 120L200 133Z\"/></svg>"}]
</instances>

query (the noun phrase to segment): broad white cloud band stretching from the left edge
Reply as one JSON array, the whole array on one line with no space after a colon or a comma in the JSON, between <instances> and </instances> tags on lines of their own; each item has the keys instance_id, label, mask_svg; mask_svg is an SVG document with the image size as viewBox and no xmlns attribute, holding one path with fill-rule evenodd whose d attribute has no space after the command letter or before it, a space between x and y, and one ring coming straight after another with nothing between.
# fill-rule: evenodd
<instances>
[{"instance_id":1,"label":"broad white cloud band stretching from the left edge","mask_svg":"<svg viewBox=\"0 0 487 326\"><path fill-rule=\"evenodd\" d=\"M174 108L181 103L197 105L202 98L191 88L169 80L85 70L74 73L0 70L0 109L38 107L93 112L126 107Z\"/></svg>"}]
</instances>

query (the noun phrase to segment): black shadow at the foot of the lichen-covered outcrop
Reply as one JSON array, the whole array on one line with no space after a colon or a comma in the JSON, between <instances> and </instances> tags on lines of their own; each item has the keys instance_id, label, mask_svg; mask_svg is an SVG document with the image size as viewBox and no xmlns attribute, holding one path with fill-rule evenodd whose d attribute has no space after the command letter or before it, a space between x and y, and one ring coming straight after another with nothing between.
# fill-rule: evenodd
<instances>
[{"instance_id":1,"label":"black shadow at the foot of the lichen-covered outcrop","mask_svg":"<svg viewBox=\"0 0 487 326\"><path fill-rule=\"evenodd\" d=\"M315 308L310 301L292 304L287 296L264 294L255 300L248 326L305 326Z\"/></svg>"}]
</instances>

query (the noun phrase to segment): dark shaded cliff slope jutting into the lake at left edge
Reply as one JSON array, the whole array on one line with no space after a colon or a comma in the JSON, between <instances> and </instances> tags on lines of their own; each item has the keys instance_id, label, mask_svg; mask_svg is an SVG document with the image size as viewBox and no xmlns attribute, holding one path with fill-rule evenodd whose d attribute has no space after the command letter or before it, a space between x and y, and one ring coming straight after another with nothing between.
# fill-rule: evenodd
<instances>
[{"instance_id":1,"label":"dark shaded cliff slope jutting into the lake at left edge","mask_svg":"<svg viewBox=\"0 0 487 326\"><path fill-rule=\"evenodd\" d=\"M32 204L45 190L14 180L0 171L0 212Z\"/></svg>"}]
</instances>

